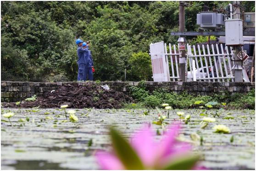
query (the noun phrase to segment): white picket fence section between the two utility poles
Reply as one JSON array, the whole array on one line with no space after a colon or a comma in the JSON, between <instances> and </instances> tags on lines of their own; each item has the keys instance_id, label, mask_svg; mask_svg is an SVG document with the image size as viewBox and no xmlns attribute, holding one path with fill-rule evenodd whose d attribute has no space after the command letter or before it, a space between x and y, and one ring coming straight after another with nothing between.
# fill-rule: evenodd
<instances>
[{"instance_id":1,"label":"white picket fence section between the two utility poles","mask_svg":"<svg viewBox=\"0 0 256 171\"><path fill-rule=\"evenodd\" d=\"M192 79L192 73L196 72L196 80L209 82L234 82L232 73L234 62L231 61L231 56L234 56L233 51L230 49L231 53L229 53L228 46L225 47L224 51L222 44L220 44L220 49L219 45L216 44L216 52L213 44L211 44L211 50L210 46L207 44L206 50L204 45L202 45L201 50L199 45L197 48L193 45L193 49L191 49L191 45L187 44L187 56L190 69L190 71L187 72L188 81ZM192 68L192 60L195 60L195 71Z\"/></svg>"}]
</instances>

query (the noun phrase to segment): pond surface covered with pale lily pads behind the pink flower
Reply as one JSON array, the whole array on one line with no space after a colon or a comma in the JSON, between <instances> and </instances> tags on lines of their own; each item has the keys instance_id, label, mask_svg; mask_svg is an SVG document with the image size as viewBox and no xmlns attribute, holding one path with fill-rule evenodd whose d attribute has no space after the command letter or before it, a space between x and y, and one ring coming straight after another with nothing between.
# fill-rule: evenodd
<instances>
[{"instance_id":1,"label":"pond surface covered with pale lily pads behind the pink flower","mask_svg":"<svg viewBox=\"0 0 256 171\"><path fill-rule=\"evenodd\" d=\"M11 117L12 127L2 116L10 110L15 113ZM65 122L64 110L2 108L1 169L97 170L95 151L110 148L108 126L115 124L129 137L143 123L157 120L156 110L149 110L146 116L143 115L145 111L148 110L79 109L76 113L79 120L73 123ZM203 137L202 145L194 145L194 151L203 156L201 165L215 170L255 169L254 110L172 110L170 118L165 121L179 120L176 111L191 114L190 122L182 125L181 136L184 139L191 140L190 134L195 132ZM216 122L201 129L200 121L205 116L215 117ZM226 116L234 119L224 119ZM21 118L25 121L19 121ZM212 127L216 124L226 125L231 133L213 133ZM152 124L152 127L155 131L161 130L159 125ZM160 138L156 136L156 139ZM92 145L89 147L90 140Z\"/></svg>"}]
</instances>

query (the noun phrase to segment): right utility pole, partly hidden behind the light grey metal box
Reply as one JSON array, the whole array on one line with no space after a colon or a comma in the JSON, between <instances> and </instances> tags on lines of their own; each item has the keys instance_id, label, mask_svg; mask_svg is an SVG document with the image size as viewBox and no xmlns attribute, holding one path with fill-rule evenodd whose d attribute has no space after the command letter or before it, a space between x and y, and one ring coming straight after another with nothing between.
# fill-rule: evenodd
<instances>
[{"instance_id":1,"label":"right utility pole, partly hidden behind the light grey metal box","mask_svg":"<svg viewBox=\"0 0 256 171\"><path fill-rule=\"evenodd\" d=\"M241 19L241 11L240 11L240 1L234 1L234 6L236 6L236 10L233 13L233 19ZM237 26L239 27L239 26ZM235 72L235 82L243 82L243 61L240 60L237 55L239 54L239 52L242 51L241 46L234 46L234 72Z\"/></svg>"}]
</instances>

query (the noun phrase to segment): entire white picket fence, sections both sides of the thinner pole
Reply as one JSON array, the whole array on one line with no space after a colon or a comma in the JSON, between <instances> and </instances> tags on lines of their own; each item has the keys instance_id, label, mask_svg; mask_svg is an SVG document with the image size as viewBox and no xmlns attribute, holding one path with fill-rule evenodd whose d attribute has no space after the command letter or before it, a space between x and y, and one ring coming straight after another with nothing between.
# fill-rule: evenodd
<instances>
[{"instance_id":1,"label":"entire white picket fence, sections both sides of the thinner pole","mask_svg":"<svg viewBox=\"0 0 256 171\"><path fill-rule=\"evenodd\" d=\"M192 46L187 44L187 81L193 80L193 74L197 81L208 82L234 82L234 53L228 46L223 47L223 44L216 44L215 46L198 45ZM169 49L169 52L168 52ZM153 79L155 82L159 81L178 81L179 70L179 50L175 44L164 44L163 41L150 44L150 56L152 62ZM195 68L193 70L192 63L195 60ZM169 67L170 61L170 67ZM189 67L188 67L189 65ZM249 78L243 70L244 81L249 81ZM194 79L195 80L195 79Z\"/></svg>"}]
</instances>

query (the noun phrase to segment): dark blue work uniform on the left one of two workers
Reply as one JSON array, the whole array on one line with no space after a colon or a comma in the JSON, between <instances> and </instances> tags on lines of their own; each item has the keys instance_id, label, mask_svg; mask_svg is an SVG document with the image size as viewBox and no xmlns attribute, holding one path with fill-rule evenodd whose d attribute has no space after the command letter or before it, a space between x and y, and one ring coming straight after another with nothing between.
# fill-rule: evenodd
<instances>
[{"instance_id":1,"label":"dark blue work uniform on the left one of two workers","mask_svg":"<svg viewBox=\"0 0 256 171\"><path fill-rule=\"evenodd\" d=\"M86 58L84 54L88 54L88 48L83 49L82 47L78 47L78 81L85 81L84 80L84 70L86 66Z\"/></svg>"}]
</instances>

